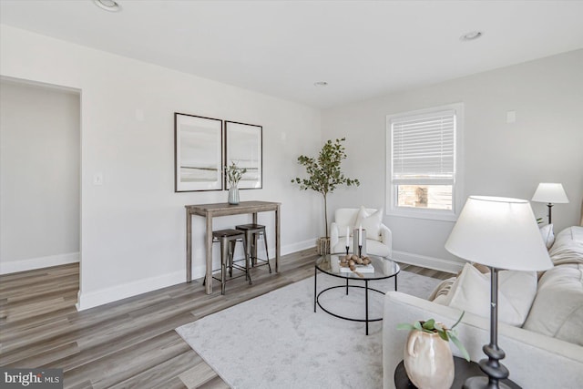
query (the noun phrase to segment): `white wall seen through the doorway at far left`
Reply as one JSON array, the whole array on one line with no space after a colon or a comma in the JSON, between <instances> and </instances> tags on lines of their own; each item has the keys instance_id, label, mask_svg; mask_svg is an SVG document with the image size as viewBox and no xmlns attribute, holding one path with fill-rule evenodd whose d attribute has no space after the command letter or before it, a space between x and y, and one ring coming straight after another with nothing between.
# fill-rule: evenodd
<instances>
[{"instance_id":1,"label":"white wall seen through the doorway at far left","mask_svg":"<svg viewBox=\"0 0 583 389\"><path fill-rule=\"evenodd\" d=\"M0 83L0 273L79 259L79 95Z\"/></svg>"}]
</instances>

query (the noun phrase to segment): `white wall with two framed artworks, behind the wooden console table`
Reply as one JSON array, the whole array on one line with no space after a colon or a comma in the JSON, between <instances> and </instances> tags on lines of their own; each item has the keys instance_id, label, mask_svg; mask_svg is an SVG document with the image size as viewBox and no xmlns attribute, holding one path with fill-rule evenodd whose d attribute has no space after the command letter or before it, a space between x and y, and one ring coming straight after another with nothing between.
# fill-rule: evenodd
<instances>
[{"instance_id":1,"label":"white wall with two framed artworks, behind the wooden console table","mask_svg":"<svg viewBox=\"0 0 583 389\"><path fill-rule=\"evenodd\" d=\"M0 33L2 76L81 90L80 309L184 282L184 205L227 200L227 191L174 193L174 112L263 126L263 189L240 198L281 202L283 252L314 245L319 199L290 181L297 156L319 147L318 110L13 27ZM215 227L240 220L251 216ZM260 215L272 231L271 220ZM194 277L204 271L202 226L195 218Z\"/></svg>"}]
</instances>

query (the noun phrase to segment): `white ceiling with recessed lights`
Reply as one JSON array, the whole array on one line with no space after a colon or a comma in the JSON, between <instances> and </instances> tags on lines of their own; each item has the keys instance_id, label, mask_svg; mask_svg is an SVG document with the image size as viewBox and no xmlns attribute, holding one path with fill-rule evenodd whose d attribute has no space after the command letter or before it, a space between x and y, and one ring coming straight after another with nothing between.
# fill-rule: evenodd
<instances>
[{"instance_id":1,"label":"white ceiling with recessed lights","mask_svg":"<svg viewBox=\"0 0 583 389\"><path fill-rule=\"evenodd\" d=\"M0 21L312 107L583 48L583 1L118 3L0 0Z\"/></svg>"}]
</instances>

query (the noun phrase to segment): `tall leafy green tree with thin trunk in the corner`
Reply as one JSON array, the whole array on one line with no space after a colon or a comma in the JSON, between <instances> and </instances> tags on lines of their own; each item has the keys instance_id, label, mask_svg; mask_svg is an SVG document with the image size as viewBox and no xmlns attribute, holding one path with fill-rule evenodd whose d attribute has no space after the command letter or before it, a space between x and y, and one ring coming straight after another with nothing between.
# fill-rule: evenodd
<instances>
[{"instance_id":1,"label":"tall leafy green tree with thin trunk in the corner","mask_svg":"<svg viewBox=\"0 0 583 389\"><path fill-rule=\"evenodd\" d=\"M344 174L340 168L343 159L346 159L346 152L343 146L343 141L346 138L336 139L334 142L328 140L318 158L300 156L298 157L298 163L305 166L306 172L308 173L307 179L300 179L296 177L292 179L292 182L299 184L300 189L307 190L312 189L321 193L324 199L324 226L326 227L326 238L328 235L328 193L332 193L339 185L346 186L359 186L361 183L358 179L348 179L344 177Z\"/></svg>"}]
</instances>

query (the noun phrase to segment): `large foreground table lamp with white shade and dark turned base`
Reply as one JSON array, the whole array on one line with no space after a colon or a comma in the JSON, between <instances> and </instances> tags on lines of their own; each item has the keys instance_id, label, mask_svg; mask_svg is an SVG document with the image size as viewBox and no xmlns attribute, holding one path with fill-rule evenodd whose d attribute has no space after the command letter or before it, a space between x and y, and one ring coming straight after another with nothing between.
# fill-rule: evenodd
<instances>
[{"instance_id":1,"label":"large foreground table lamp with white shade and dark turned base","mask_svg":"<svg viewBox=\"0 0 583 389\"><path fill-rule=\"evenodd\" d=\"M506 354L498 347L498 271L543 271L553 266L527 200L470 196L445 242L452 254L490 268L490 343L479 362L487 377L470 377L464 388L505 388Z\"/></svg>"}]
</instances>

